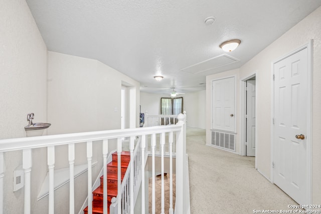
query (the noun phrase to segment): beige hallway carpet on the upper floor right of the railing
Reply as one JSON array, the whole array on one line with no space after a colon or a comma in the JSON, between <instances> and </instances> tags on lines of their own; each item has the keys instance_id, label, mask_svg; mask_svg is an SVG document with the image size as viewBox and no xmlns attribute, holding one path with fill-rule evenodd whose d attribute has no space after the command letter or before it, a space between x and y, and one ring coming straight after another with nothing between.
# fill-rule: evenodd
<instances>
[{"instance_id":1,"label":"beige hallway carpet on the upper floor right of the railing","mask_svg":"<svg viewBox=\"0 0 321 214\"><path fill-rule=\"evenodd\" d=\"M254 157L206 146L205 141L204 129L187 128L192 214L279 211L297 205L254 168Z\"/></svg>"}]
</instances>

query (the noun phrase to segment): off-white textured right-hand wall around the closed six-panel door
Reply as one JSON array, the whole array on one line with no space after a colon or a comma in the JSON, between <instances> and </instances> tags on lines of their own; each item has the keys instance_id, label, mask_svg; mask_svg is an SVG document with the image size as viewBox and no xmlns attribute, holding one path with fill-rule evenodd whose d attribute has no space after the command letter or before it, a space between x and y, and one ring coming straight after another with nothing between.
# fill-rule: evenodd
<instances>
[{"instance_id":1,"label":"off-white textured right-hand wall around the closed six-panel door","mask_svg":"<svg viewBox=\"0 0 321 214\"><path fill-rule=\"evenodd\" d=\"M239 69L239 79L257 71L257 157L258 170L270 178L271 167L271 63L313 39L313 134L312 134L312 204L321 203L321 8L312 12L300 23L269 45ZM229 75L229 72L222 75ZM207 83L215 76L208 76ZM207 89L209 92L209 89ZM237 94L239 96L239 94ZM210 98L207 97L207 115L210 115ZM239 114L238 114L239 115ZM209 116L210 117L210 116ZM239 121L239 117L237 117ZM210 126L207 125L207 131ZM237 136L239 138L239 136ZM207 132L207 140L210 136Z\"/></svg>"}]
</instances>

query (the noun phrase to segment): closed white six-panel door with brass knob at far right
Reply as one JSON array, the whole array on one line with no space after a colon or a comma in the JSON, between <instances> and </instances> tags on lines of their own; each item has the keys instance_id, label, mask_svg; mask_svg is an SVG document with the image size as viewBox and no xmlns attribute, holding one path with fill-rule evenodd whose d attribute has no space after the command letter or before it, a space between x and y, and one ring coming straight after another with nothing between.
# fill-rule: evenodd
<instances>
[{"instance_id":1,"label":"closed white six-panel door with brass knob at far right","mask_svg":"<svg viewBox=\"0 0 321 214\"><path fill-rule=\"evenodd\" d=\"M274 183L308 204L307 48L274 64Z\"/></svg>"}]
</instances>

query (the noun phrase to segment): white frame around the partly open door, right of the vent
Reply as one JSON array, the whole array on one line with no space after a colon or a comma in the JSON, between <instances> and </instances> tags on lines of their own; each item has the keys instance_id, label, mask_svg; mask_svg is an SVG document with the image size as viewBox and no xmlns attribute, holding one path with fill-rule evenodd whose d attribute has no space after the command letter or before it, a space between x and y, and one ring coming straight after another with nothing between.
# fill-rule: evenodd
<instances>
[{"instance_id":1,"label":"white frame around the partly open door, right of the vent","mask_svg":"<svg viewBox=\"0 0 321 214\"><path fill-rule=\"evenodd\" d=\"M245 150L245 139L246 139L246 81L255 77L257 71L254 71L253 73L249 74L248 76L244 77L240 80L240 155L245 156L246 150ZM255 92L256 94L256 92ZM257 99L255 99L255 106L257 106ZM255 118L256 117L256 111L255 111ZM257 155L257 127L255 129L255 157ZM255 168L256 166L256 158L255 158Z\"/></svg>"}]
</instances>

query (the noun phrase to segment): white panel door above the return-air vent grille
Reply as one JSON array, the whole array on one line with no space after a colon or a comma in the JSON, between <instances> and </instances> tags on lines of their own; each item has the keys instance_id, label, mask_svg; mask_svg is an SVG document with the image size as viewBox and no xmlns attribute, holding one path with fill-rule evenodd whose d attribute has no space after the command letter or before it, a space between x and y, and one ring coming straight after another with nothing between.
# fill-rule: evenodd
<instances>
[{"instance_id":1,"label":"white panel door above the return-air vent grille","mask_svg":"<svg viewBox=\"0 0 321 214\"><path fill-rule=\"evenodd\" d=\"M212 83L212 129L235 132L234 77Z\"/></svg>"}]
</instances>

